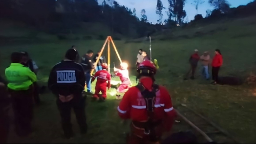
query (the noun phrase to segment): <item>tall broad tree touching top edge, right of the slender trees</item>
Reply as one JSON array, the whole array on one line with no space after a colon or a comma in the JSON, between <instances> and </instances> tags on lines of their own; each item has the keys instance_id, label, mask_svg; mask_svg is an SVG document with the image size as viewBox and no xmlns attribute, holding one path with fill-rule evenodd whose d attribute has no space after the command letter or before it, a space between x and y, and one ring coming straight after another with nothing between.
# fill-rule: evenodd
<instances>
[{"instance_id":1,"label":"tall broad tree touching top edge, right of the slender trees","mask_svg":"<svg viewBox=\"0 0 256 144\"><path fill-rule=\"evenodd\" d=\"M169 2L169 19L181 23L187 13L183 10L186 0L168 0Z\"/></svg>"}]
</instances>

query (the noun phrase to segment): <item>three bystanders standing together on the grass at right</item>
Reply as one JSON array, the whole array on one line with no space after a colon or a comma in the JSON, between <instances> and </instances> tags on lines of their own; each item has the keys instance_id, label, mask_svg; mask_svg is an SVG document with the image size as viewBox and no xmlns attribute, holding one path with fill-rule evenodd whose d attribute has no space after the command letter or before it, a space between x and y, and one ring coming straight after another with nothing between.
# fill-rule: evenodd
<instances>
[{"instance_id":1,"label":"three bystanders standing together on the grass at right","mask_svg":"<svg viewBox=\"0 0 256 144\"><path fill-rule=\"evenodd\" d=\"M189 63L190 63L190 69L188 73L185 75L185 80L187 80L188 75L191 73L190 79L195 79L195 71L198 65L198 61L202 62L202 75L204 76L205 79L209 80L210 79L210 74L209 74L209 67L210 67L210 62L211 58L209 55L209 52L205 51L203 55L198 54L198 50L195 50L194 54L192 54L189 58ZM215 55L212 59L211 66L212 66L212 84L217 84L218 83L218 77L219 77L219 70L220 67L222 66L223 63L223 58L221 55L221 52L219 49L215 50Z\"/></svg>"}]
</instances>

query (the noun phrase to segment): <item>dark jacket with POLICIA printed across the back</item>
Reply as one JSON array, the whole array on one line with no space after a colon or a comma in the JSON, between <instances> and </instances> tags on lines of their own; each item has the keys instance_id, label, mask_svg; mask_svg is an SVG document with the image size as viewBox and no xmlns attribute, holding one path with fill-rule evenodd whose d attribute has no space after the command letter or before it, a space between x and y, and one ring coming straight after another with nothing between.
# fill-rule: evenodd
<instances>
[{"instance_id":1,"label":"dark jacket with POLICIA printed across the back","mask_svg":"<svg viewBox=\"0 0 256 144\"><path fill-rule=\"evenodd\" d=\"M84 69L79 63L63 60L52 68L48 87L55 95L80 95L84 86Z\"/></svg>"}]
</instances>

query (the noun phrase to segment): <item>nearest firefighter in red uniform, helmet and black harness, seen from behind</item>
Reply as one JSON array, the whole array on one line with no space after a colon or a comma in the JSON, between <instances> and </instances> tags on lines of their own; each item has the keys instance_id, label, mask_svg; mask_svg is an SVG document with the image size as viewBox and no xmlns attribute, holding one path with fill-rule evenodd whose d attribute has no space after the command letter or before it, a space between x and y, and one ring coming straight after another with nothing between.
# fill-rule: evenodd
<instances>
[{"instance_id":1,"label":"nearest firefighter in red uniform, helmet and black harness, seen from behind","mask_svg":"<svg viewBox=\"0 0 256 144\"><path fill-rule=\"evenodd\" d=\"M127 143L158 143L164 131L170 131L176 112L169 92L156 85L153 62L145 60L138 67L139 84L131 87L117 108L123 119L131 119Z\"/></svg>"}]
</instances>

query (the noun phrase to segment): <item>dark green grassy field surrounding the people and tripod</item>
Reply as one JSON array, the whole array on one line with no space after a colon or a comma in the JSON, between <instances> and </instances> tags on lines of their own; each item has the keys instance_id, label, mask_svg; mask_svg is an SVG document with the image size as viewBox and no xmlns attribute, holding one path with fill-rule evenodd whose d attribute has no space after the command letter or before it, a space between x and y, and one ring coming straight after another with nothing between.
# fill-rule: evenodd
<instances>
[{"instance_id":1,"label":"dark green grassy field surrounding the people and tripod","mask_svg":"<svg viewBox=\"0 0 256 144\"><path fill-rule=\"evenodd\" d=\"M220 30L220 27L222 28ZM224 27L224 28L223 28ZM195 36L198 31L212 31L203 36ZM159 71L156 82L167 87L172 94L174 107L180 103L195 109L211 121L226 129L240 141L255 143L256 138L256 97L255 86L211 85L201 76L198 67L195 80L183 81L183 75L189 69L189 55L194 49L200 53L209 51L213 57L214 50L220 49L223 55L223 66L220 76L246 77L255 70L256 64L256 27L255 20L246 18L236 21L225 21L223 24L212 23L209 26L195 26L181 30L176 36L189 35L190 38L152 42L152 56L158 60ZM210 33L210 32L209 32ZM165 35L168 37L168 35ZM162 36L163 37L163 36ZM157 39L157 38L156 38ZM161 38L160 38L161 39ZM115 39L114 39L115 41ZM77 45L80 55L87 50L98 51L104 41L56 41L49 43L12 43L1 45L0 74L10 65L10 54L13 51L28 51L39 66L38 82L46 85L52 66L63 59L71 45ZM123 61L135 66L135 58L139 49L148 49L148 42L125 43L115 41ZM103 53L107 54L107 53ZM111 70L113 62L119 65L114 50L111 51ZM200 66L200 65L199 65ZM130 76L135 83L135 70L130 69ZM95 83L95 82L94 82ZM114 91L114 90L110 90ZM28 138L18 138L13 130L10 134L11 143L123 143L124 132L129 131L117 115L119 100L108 95L106 102L94 102L87 98L86 115L89 131L87 135L79 135L75 116L72 123L76 132L74 139L61 138L60 116L55 98L51 93L41 95L42 106L35 108L35 131ZM189 117L193 119L193 117ZM175 126L175 125L174 125ZM176 128L178 129L178 128Z\"/></svg>"}]
</instances>

